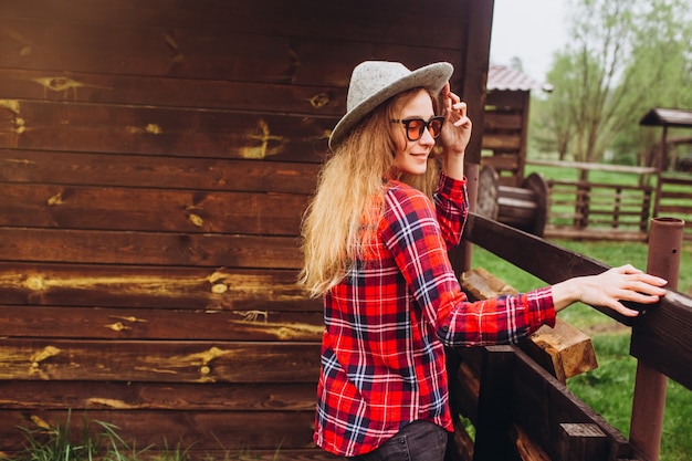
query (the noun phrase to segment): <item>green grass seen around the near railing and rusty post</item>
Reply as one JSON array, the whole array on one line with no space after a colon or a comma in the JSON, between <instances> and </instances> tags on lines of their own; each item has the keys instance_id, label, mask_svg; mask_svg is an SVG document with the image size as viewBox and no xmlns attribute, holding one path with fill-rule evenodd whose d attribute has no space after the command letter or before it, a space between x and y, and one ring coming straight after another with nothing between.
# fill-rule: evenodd
<instances>
[{"instance_id":1,"label":"green grass seen around the near railing and rusty post","mask_svg":"<svg viewBox=\"0 0 692 461\"><path fill-rule=\"evenodd\" d=\"M648 248L640 242L554 241L608 265L631 263L646 269ZM545 283L479 248L473 249L472 266L481 266L518 291ZM684 243L678 291L692 295L692 243ZM626 437L632 411L636 359L629 355L629 328L584 304L559 313L560 318L585 331L594 343L599 367L569 379L568 387ZM692 453L692 392L669 381L661 442L661 461L689 460Z\"/></svg>"}]
</instances>

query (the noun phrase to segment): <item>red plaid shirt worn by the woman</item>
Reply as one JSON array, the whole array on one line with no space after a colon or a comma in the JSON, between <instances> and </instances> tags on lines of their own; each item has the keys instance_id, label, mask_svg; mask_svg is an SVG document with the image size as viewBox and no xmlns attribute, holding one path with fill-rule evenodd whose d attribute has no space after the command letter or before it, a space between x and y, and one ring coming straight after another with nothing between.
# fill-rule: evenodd
<instances>
[{"instance_id":1,"label":"red plaid shirt worn by the woman","mask_svg":"<svg viewBox=\"0 0 692 461\"><path fill-rule=\"evenodd\" d=\"M401 182L386 188L375 241L324 297L315 442L345 457L415 420L453 430L444 345L516 342L555 319L549 287L476 303L462 293L447 251L461 239L465 181L442 176L434 207Z\"/></svg>"}]
</instances>

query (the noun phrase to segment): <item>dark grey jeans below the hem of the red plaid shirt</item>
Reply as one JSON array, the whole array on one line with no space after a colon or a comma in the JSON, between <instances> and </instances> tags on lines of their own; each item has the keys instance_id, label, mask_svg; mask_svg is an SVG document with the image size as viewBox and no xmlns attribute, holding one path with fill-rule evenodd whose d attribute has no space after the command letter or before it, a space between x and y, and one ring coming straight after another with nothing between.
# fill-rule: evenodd
<instances>
[{"instance_id":1,"label":"dark grey jeans below the hem of the red plaid shirt","mask_svg":"<svg viewBox=\"0 0 692 461\"><path fill-rule=\"evenodd\" d=\"M447 430L428 421L413 421L375 451L349 461L443 461Z\"/></svg>"}]
</instances>

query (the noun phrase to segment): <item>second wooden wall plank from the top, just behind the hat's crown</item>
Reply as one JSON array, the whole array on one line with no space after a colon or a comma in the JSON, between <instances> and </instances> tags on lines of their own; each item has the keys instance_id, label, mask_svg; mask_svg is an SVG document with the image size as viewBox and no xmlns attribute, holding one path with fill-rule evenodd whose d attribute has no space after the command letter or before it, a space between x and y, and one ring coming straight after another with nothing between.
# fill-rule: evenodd
<instances>
[{"instance_id":1,"label":"second wooden wall plank from the top, just behind the hat's crown","mask_svg":"<svg viewBox=\"0 0 692 461\"><path fill-rule=\"evenodd\" d=\"M448 10L454 9L449 2L445 7ZM356 14L353 7L349 10ZM213 10L207 14L213 14ZM262 12L253 18L251 24L265 21L265 14L262 3ZM295 18L295 14L293 12L289 17ZM363 21L367 14L358 11L357 18ZM378 24L378 36L384 36L380 30L382 21L377 18L371 20ZM391 25L391 22L387 23ZM161 29L112 22L69 23L0 17L0 30L8 31L6 36L9 38L0 41L0 66L328 86L345 86L355 64L369 55L390 61L397 60L397 56L407 56L411 66L451 61L458 69L462 69L462 62L457 55L447 48L433 48L430 41L426 41L427 48L423 48L419 44L400 44L401 41L365 42L355 34L340 40L323 40L313 35L296 36L292 33L296 29L300 29L300 24L294 23L291 33L282 35L273 29L264 28L265 33L256 28L242 32L228 24L217 30ZM398 31L395 35L400 38L416 35L406 29L395 29ZM452 28L447 31L444 40L457 48L459 41L454 42L454 39L459 39L461 33L461 28ZM340 59L325 66L324 57L329 55L338 55Z\"/></svg>"}]
</instances>

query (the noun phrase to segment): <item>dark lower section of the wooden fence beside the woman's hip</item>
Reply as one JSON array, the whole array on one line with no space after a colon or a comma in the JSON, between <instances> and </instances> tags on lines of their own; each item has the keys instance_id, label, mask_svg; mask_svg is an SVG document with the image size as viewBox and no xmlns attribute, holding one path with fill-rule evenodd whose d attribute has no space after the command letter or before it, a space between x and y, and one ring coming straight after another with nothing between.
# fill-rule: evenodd
<instances>
[{"instance_id":1,"label":"dark lower section of the wooden fence beside the woman's hip","mask_svg":"<svg viewBox=\"0 0 692 461\"><path fill-rule=\"evenodd\" d=\"M474 460L646 460L521 347L451 354L452 408L475 426Z\"/></svg>"}]
</instances>

